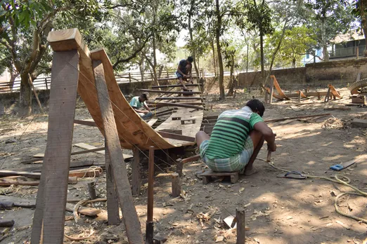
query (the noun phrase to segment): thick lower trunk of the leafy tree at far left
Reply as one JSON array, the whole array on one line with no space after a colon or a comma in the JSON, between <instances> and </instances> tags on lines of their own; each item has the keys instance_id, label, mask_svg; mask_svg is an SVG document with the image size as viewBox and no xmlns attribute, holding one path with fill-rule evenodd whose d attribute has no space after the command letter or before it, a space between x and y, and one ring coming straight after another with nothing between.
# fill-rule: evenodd
<instances>
[{"instance_id":1,"label":"thick lower trunk of the leafy tree at far left","mask_svg":"<svg viewBox=\"0 0 367 244\"><path fill-rule=\"evenodd\" d=\"M32 112L32 87L28 73L21 74L20 79L19 115L27 116Z\"/></svg>"}]
</instances>

